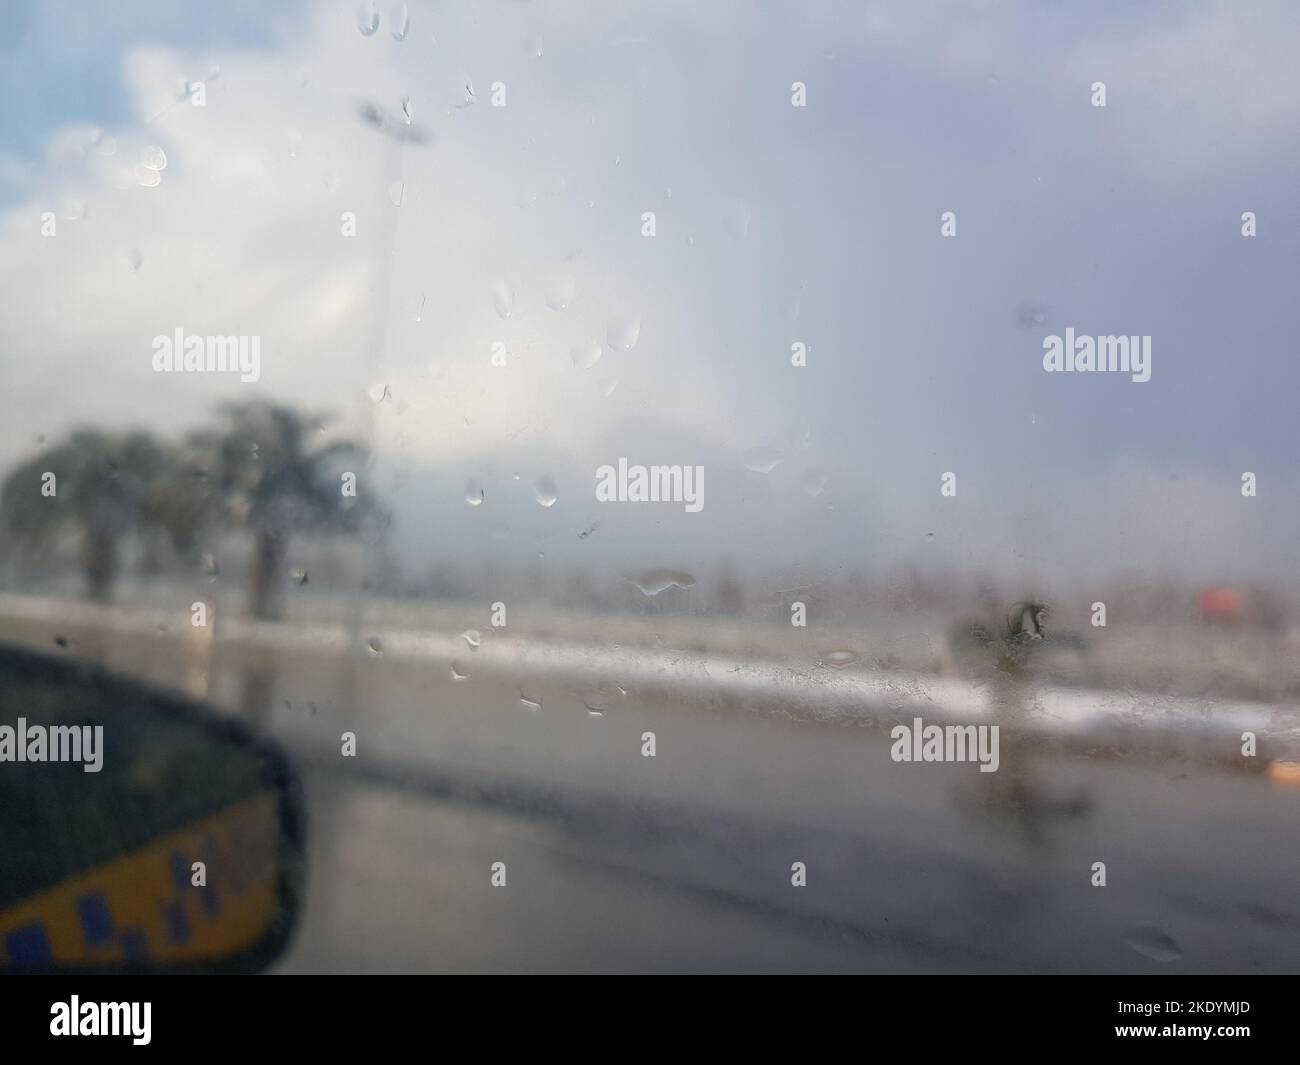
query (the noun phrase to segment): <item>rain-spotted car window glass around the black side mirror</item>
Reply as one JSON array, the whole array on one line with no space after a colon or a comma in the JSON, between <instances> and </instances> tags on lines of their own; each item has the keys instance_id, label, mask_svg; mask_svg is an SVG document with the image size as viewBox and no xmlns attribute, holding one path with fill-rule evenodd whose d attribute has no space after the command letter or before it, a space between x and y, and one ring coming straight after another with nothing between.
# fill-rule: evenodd
<instances>
[{"instance_id":1,"label":"rain-spotted car window glass around the black side mirror","mask_svg":"<svg viewBox=\"0 0 1300 1065\"><path fill-rule=\"evenodd\" d=\"M276 971L1295 971L1297 18L21 0L0 642Z\"/></svg>"}]
</instances>

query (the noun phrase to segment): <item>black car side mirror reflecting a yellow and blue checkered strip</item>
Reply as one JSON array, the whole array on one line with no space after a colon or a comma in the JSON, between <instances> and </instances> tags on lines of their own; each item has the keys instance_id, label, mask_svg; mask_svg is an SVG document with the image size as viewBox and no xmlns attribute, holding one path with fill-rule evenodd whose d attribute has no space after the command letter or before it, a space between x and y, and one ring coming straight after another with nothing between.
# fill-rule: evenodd
<instances>
[{"instance_id":1,"label":"black car side mirror reflecting a yellow and blue checkered strip","mask_svg":"<svg viewBox=\"0 0 1300 1065\"><path fill-rule=\"evenodd\" d=\"M303 878L280 748L99 666L0 649L0 971L257 971Z\"/></svg>"}]
</instances>

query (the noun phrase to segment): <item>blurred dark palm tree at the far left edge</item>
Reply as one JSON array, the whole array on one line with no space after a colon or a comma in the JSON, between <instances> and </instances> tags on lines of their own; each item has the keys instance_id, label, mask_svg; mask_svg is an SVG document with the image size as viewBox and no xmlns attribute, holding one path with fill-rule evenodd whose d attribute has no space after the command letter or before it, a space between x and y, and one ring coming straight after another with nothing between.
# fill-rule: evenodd
<instances>
[{"instance_id":1,"label":"blurred dark palm tree at the far left edge","mask_svg":"<svg viewBox=\"0 0 1300 1065\"><path fill-rule=\"evenodd\" d=\"M48 550L66 529L81 537L86 593L109 602L118 576L121 541L150 524L148 499L173 455L150 433L77 429L62 443L13 469L0 489L0 508L17 545ZM43 490L55 480L53 494Z\"/></svg>"}]
</instances>

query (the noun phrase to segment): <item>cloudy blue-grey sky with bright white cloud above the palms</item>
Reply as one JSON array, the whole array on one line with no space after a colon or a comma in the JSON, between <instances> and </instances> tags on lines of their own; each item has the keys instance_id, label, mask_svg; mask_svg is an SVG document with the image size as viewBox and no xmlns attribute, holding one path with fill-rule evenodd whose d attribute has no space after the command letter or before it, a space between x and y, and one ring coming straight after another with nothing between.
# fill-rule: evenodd
<instances>
[{"instance_id":1,"label":"cloudy blue-grey sky with bright white cloud above the palms","mask_svg":"<svg viewBox=\"0 0 1300 1065\"><path fill-rule=\"evenodd\" d=\"M370 445L415 572L1295 584L1296 5L373 13L8 5L0 467L266 398ZM260 380L156 373L177 328ZM1150 381L1044 372L1066 328ZM703 508L599 503L620 456Z\"/></svg>"}]
</instances>

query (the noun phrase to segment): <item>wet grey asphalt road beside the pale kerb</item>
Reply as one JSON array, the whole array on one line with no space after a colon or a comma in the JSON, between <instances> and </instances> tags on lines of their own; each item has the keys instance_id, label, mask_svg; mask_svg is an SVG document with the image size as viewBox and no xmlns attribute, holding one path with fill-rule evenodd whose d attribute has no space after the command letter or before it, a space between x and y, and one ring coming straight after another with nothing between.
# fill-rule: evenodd
<instances>
[{"instance_id":1,"label":"wet grey asphalt road beside the pale kerb","mask_svg":"<svg viewBox=\"0 0 1300 1065\"><path fill-rule=\"evenodd\" d=\"M1260 774L1013 741L982 775L894 763L853 724L359 672L364 710L317 676L274 711L313 752L280 971L1300 967L1300 791Z\"/></svg>"}]
</instances>

